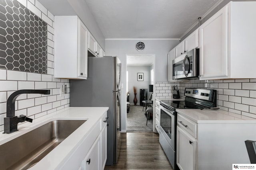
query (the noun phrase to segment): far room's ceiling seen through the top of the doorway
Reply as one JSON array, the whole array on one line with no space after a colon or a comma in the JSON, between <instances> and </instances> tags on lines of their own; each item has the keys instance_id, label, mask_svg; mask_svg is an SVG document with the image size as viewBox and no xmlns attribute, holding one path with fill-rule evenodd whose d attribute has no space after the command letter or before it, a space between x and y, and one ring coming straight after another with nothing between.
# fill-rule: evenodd
<instances>
[{"instance_id":1,"label":"far room's ceiling seen through the top of the doorway","mask_svg":"<svg viewBox=\"0 0 256 170\"><path fill-rule=\"evenodd\" d=\"M154 64L155 55L126 55L128 66L151 66Z\"/></svg>"}]
</instances>

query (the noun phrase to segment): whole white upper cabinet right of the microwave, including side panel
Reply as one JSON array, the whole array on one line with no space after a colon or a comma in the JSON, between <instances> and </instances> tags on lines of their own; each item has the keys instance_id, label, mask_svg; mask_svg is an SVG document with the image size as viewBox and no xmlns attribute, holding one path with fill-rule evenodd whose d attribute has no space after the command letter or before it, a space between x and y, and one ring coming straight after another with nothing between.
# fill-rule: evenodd
<instances>
[{"instance_id":1,"label":"whole white upper cabinet right of the microwave, including side panel","mask_svg":"<svg viewBox=\"0 0 256 170\"><path fill-rule=\"evenodd\" d=\"M256 2L230 2L199 27L200 80L256 78Z\"/></svg>"}]
</instances>

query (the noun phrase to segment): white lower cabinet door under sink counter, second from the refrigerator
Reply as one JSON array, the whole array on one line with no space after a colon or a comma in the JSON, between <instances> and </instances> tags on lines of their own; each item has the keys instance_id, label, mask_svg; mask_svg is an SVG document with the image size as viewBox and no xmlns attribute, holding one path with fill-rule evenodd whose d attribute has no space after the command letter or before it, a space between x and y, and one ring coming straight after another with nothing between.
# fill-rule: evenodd
<instances>
[{"instance_id":1,"label":"white lower cabinet door under sink counter, second from the refrigerator","mask_svg":"<svg viewBox=\"0 0 256 170\"><path fill-rule=\"evenodd\" d=\"M89 153L84 160L85 170L100 170L100 138L92 145Z\"/></svg>"}]
</instances>

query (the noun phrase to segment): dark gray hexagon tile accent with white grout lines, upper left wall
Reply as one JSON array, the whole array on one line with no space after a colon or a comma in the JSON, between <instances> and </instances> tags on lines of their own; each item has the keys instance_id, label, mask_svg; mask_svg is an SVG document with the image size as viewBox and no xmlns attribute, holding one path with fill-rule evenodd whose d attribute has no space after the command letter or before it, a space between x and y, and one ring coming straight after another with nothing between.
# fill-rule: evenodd
<instances>
[{"instance_id":1,"label":"dark gray hexagon tile accent with white grout lines, upper left wall","mask_svg":"<svg viewBox=\"0 0 256 170\"><path fill-rule=\"evenodd\" d=\"M16 0L0 0L0 69L47 73L47 24Z\"/></svg>"}]
</instances>

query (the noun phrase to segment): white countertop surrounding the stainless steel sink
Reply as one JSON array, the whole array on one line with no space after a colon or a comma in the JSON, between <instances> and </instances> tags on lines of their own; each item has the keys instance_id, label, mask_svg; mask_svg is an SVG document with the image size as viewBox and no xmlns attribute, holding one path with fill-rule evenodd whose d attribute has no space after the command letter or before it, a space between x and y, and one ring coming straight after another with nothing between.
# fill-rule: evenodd
<instances>
[{"instance_id":1,"label":"white countertop surrounding the stainless steel sink","mask_svg":"<svg viewBox=\"0 0 256 170\"><path fill-rule=\"evenodd\" d=\"M19 131L11 134L0 134L0 145L6 143L28 131L36 129L45 123L52 120L60 119L72 119L72 120L86 120L76 131L68 136L62 143L48 153L42 160L40 160L35 166L30 169L59 169L60 165L68 159L75 147L82 143L88 136L94 125L99 122L100 118L108 110L108 107L67 107L55 113L51 113L50 116L44 117L43 120L36 119L33 123L23 123L18 125ZM100 129L99 129L100 130Z\"/></svg>"}]
</instances>

